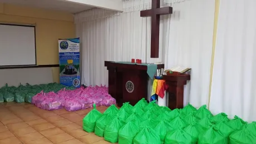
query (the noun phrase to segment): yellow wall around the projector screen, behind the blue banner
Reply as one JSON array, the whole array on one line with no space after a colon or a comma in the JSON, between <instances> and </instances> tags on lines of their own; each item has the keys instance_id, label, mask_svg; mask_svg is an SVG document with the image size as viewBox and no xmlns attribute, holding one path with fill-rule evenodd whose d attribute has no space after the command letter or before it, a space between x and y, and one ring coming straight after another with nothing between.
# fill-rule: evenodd
<instances>
[{"instance_id":1,"label":"yellow wall around the projector screen, behind the blue banner","mask_svg":"<svg viewBox=\"0 0 256 144\"><path fill-rule=\"evenodd\" d=\"M58 39L75 37L70 13L0 3L0 23L36 24L37 65L58 64ZM59 81L58 68L52 68L53 80Z\"/></svg>"}]
</instances>

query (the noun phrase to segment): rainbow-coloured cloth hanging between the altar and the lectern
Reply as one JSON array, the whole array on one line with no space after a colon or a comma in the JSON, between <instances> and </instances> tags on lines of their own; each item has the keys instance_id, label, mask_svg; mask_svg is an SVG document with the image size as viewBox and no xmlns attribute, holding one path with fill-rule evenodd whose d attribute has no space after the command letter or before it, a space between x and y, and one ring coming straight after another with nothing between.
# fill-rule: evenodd
<instances>
[{"instance_id":1,"label":"rainbow-coloured cloth hanging between the altar and the lectern","mask_svg":"<svg viewBox=\"0 0 256 144\"><path fill-rule=\"evenodd\" d=\"M168 85L165 83L165 80L154 79L150 101L157 100L158 96L160 96L163 99L165 95L164 92L167 89Z\"/></svg>"}]
</instances>

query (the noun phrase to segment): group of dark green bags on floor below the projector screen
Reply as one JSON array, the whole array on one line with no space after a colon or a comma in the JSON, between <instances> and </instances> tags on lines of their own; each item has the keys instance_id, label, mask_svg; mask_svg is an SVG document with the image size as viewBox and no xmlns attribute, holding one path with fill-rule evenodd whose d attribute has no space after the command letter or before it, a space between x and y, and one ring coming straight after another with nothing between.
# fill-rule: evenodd
<instances>
[{"instance_id":1,"label":"group of dark green bags on floor below the projector screen","mask_svg":"<svg viewBox=\"0 0 256 144\"><path fill-rule=\"evenodd\" d=\"M8 86L6 84L2 88L0 88L0 102L29 102L31 103L32 97L38 94L40 91L50 92L54 91L57 92L63 88L68 90L75 89L72 87L66 87L65 85L57 84L57 83L50 83L50 84L40 84L40 85L22 85L20 84L18 87L16 86Z\"/></svg>"}]
</instances>

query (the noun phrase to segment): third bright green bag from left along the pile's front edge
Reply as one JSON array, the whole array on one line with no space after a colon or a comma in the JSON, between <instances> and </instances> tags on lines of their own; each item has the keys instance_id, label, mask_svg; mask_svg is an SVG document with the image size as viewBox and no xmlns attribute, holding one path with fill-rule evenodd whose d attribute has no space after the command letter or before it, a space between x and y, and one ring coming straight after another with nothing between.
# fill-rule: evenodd
<instances>
[{"instance_id":1,"label":"third bright green bag from left along the pile's front edge","mask_svg":"<svg viewBox=\"0 0 256 144\"><path fill-rule=\"evenodd\" d=\"M125 125L125 122L122 121L118 116L115 117L105 128L104 140L111 143L118 142L118 132L122 126Z\"/></svg>"}]
</instances>

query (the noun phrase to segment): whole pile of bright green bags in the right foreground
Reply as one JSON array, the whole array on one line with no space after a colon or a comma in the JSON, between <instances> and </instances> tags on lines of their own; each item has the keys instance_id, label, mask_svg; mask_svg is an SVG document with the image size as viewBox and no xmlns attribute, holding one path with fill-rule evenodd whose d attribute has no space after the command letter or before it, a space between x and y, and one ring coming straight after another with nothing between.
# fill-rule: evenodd
<instances>
[{"instance_id":1,"label":"whole pile of bright green bags in the right foreground","mask_svg":"<svg viewBox=\"0 0 256 144\"><path fill-rule=\"evenodd\" d=\"M119 144L256 144L256 122L247 124L238 116L230 120L225 113L214 116L206 105L170 110L145 99L120 109L112 105L104 114L94 107L83 119L83 130Z\"/></svg>"}]
</instances>

